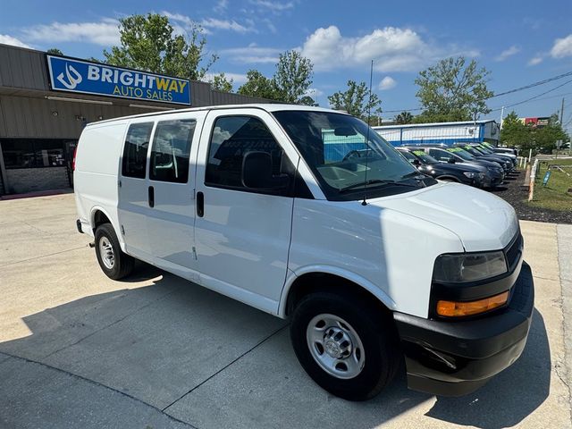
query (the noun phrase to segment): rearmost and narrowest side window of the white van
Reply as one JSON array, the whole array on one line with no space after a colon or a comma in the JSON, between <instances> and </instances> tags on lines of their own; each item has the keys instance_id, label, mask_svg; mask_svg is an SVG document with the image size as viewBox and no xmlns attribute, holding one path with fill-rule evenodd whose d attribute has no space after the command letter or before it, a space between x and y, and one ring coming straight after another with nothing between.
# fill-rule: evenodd
<instances>
[{"instance_id":1,"label":"rearmost and narrowest side window of the white van","mask_svg":"<svg viewBox=\"0 0 572 429\"><path fill-rule=\"evenodd\" d=\"M123 149L122 175L145 179L147 147L153 130L153 122L133 123L127 130Z\"/></svg>"}]
</instances>

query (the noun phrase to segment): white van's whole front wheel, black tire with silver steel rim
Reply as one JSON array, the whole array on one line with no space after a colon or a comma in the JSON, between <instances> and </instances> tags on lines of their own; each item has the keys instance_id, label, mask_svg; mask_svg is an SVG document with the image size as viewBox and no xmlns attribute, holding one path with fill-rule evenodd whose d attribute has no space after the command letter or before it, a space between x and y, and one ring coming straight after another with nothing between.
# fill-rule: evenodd
<instances>
[{"instance_id":1,"label":"white van's whole front wheel, black tire with silver steel rim","mask_svg":"<svg viewBox=\"0 0 572 429\"><path fill-rule=\"evenodd\" d=\"M391 319L350 294L303 298L292 316L290 339L315 383L345 400L373 398L400 366Z\"/></svg>"}]
</instances>

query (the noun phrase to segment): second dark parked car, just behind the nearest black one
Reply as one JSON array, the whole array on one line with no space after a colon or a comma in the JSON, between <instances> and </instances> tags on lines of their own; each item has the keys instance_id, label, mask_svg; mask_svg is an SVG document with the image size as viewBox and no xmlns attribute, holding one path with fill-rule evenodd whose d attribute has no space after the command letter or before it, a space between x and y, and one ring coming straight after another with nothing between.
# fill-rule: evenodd
<instances>
[{"instance_id":1,"label":"second dark parked car, just behind the nearest black one","mask_svg":"<svg viewBox=\"0 0 572 429\"><path fill-rule=\"evenodd\" d=\"M460 147L448 147L442 145L417 145L425 150L425 153L433 156L440 163L480 165L486 168L488 177L485 178L484 188L499 186L504 180L504 170L501 165L484 159L477 159Z\"/></svg>"}]
</instances>

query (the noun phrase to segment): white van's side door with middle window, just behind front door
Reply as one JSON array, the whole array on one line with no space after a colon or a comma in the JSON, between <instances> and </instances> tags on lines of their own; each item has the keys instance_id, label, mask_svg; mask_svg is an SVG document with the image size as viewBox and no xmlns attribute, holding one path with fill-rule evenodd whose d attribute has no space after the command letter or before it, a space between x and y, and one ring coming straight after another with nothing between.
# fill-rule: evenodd
<instances>
[{"instance_id":1,"label":"white van's side door with middle window, just behind front door","mask_svg":"<svg viewBox=\"0 0 572 429\"><path fill-rule=\"evenodd\" d=\"M153 257L157 266L193 282L199 281L193 252L194 160L198 126L205 115L206 112L179 114L157 122L149 157L148 187L153 201L147 230Z\"/></svg>"}]
</instances>

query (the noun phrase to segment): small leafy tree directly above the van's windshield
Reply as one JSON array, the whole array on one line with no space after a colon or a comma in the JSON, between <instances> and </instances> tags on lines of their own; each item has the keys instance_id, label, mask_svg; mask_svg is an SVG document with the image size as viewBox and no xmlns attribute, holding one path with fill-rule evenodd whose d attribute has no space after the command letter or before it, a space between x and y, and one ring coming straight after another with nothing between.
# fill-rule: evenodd
<instances>
[{"instance_id":1,"label":"small leafy tree directly above the van's windshield","mask_svg":"<svg viewBox=\"0 0 572 429\"><path fill-rule=\"evenodd\" d=\"M332 109L345 110L366 121L369 114L374 116L382 113L382 100L374 93L369 96L366 82L357 83L355 80L348 80L348 89L332 94L328 97L328 101Z\"/></svg>"}]
</instances>

